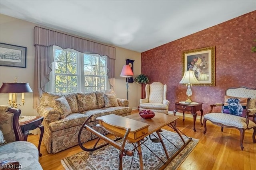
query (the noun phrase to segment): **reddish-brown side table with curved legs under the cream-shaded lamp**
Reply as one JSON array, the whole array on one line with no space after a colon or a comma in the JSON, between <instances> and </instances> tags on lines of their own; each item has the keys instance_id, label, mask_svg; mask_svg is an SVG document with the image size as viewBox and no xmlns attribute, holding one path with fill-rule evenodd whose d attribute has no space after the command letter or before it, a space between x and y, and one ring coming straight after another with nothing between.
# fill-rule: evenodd
<instances>
[{"instance_id":1,"label":"reddish-brown side table with curved legs under the cream-shaded lamp","mask_svg":"<svg viewBox=\"0 0 256 170\"><path fill-rule=\"evenodd\" d=\"M202 109L202 104L204 103L197 103L197 102L192 102L192 104L186 104L185 102L176 102L175 103L175 110L173 111L174 116L176 115L176 111L181 110L183 112L183 121L185 120L185 111L190 111L190 113L193 115L194 118L194 128L193 130L196 131L195 129L195 123L196 123L196 111L201 111L201 119L200 123L202 123L202 116L203 116L203 109ZM176 123L175 123L176 125Z\"/></svg>"}]
</instances>

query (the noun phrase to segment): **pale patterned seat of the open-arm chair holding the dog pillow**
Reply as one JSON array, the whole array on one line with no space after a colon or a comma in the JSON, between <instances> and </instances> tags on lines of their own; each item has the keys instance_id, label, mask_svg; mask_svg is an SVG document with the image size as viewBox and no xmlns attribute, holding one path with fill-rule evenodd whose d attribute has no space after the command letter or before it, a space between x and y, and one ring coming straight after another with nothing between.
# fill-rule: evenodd
<instances>
[{"instance_id":1,"label":"pale patterned seat of the open-arm chair holding the dog pillow","mask_svg":"<svg viewBox=\"0 0 256 170\"><path fill-rule=\"evenodd\" d=\"M226 113L208 113L204 115L204 119L212 122L221 123L226 126L233 126L238 128L247 129L246 119L241 116L230 115ZM248 128L256 127L256 124L249 120Z\"/></svg>"}]
</instances>

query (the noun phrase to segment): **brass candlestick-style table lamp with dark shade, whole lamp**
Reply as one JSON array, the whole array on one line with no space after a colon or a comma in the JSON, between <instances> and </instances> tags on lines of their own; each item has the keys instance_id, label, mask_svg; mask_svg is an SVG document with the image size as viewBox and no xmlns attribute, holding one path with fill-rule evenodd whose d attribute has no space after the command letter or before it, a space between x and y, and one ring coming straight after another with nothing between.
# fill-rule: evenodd
<instances>
[{"instance_id":1,"label":"brass candlestick-style table lamp with dark shade, whole lamp","mask_svg":"<svg viewBox=\"0 0 256 170\"><path fill-rule=\"evenodd\" d=\"M24 106L25 98L24 93L32 92L32 89L28 85L28 83L18 83L17 78L14 80L14 83L3 83L2 87L0 88L0 93L9 93L9 102L11 107L17 108L17 93L21 93L21 102Z\"/></svg>"}]
</instances>

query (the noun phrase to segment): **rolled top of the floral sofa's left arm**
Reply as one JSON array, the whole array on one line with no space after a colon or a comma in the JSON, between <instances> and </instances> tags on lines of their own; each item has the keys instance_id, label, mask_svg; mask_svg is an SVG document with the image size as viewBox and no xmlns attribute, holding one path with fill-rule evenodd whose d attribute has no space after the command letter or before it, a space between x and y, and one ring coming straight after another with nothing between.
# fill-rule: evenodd
<instances>
[{"instance_id":1,"label":"rolled top of the floral sofa's left arm","mask_svg":"<svg viewBox=\"0 0 256 170\"><path fill-rule=\"evenodd\" d=\"M44 117L44 120L49 121L49 123L60 119L60 113L50 106L38 106L37 112L40 116Z\"/></svg>"}]
</instances>

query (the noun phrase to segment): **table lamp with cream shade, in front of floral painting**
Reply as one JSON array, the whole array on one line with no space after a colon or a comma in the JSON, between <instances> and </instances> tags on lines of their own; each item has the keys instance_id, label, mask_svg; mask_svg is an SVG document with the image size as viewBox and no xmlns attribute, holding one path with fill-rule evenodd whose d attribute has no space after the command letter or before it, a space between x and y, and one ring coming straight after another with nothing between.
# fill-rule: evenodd
<instances>
[{"instance_id":1,"label":"table lamp with cream shade, in front of floral painting","mask_svg":"<svg viewBox=\"0 0 256 170\"><path fill-rule=\"evenodd\" d=\"M186 92L188 99L185 101L185 103L192 103L190 99L190 96L192 96L192 90L191 90L192 83L193 84L199 83L198 80L196 79L194 71L185 71L182 77L182 80L180 81L180 84L186 84L188 88Z\"/></svg>"}]
</instances>

